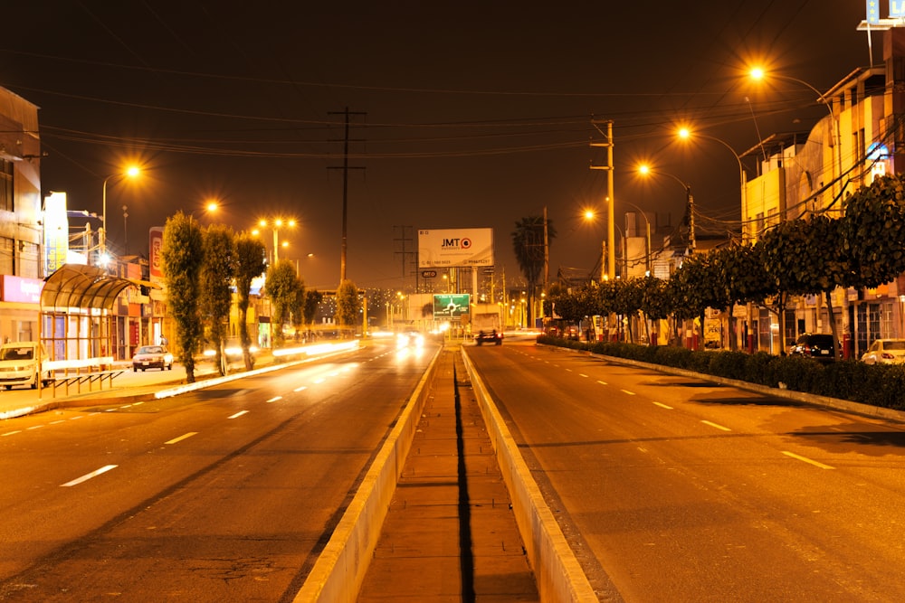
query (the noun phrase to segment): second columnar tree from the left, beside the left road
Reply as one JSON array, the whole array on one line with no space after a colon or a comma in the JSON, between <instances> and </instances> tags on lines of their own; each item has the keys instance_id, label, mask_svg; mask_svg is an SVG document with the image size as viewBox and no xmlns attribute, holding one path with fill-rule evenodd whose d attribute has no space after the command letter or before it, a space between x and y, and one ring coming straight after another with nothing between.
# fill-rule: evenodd
<instances>
[{"instance_id":1,"label":"second columnar tree from the left, beside the left road","mask_svg":"<svg viewBox=\"0 0 905 603\"><path fill-rule=\"evenodd\" d=\"M202 315L214 344L214 360L220 375L226 374L224 347L229 334L229 312L233 305L233 278L238 265L233 229L211 224L204 231L205 261L201 267Z\"/></svg>"}]
</instances>

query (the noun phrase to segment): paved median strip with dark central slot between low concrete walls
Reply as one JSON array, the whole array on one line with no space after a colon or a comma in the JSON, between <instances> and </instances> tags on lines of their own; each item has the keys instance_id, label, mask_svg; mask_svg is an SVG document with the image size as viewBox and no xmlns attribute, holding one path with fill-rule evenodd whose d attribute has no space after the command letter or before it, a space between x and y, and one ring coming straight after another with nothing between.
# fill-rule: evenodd
<instances>
[{"instance_id":1,"label":"paved median strip with dark central slot between low concrete walls","mask_svg":"<svg viewBox=\"0 0 905 603\"><path fill-rule=\"evenodd\" d=\"M538 601L458 346L438 363L358 603Z\"/></svg>"}]
</instances>

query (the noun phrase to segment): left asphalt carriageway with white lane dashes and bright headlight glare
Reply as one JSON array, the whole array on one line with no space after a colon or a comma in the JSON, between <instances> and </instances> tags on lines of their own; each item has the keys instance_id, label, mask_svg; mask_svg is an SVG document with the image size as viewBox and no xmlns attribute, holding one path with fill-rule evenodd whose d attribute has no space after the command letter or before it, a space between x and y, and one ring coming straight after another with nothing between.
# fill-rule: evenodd
<instances>
[{"instance_id":1,"label":"left asphalt carriageway with white lane dashes and bright headlight glare","mask_svg":"<svg viewBox=\"0 0 905 603\"><path fill-rule=\"evenodd\" d=\"M291 599L435 351L5 421L0 599Z\"/></svg>"}]
</instances>

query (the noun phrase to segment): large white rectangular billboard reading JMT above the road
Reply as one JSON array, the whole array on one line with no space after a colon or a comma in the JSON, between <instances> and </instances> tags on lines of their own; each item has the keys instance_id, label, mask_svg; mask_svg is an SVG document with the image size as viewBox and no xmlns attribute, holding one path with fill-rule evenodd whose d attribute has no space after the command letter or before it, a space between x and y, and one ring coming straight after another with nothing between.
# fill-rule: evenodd
<instances>
[{"instance_id":1,"label":"large white rectangular billboard reading JMT above the road","mask_svg":"<svg viewBox=\"0 0 905 603\"><path fill-rule=\"evenodd\" d=\"M418 268L493 266L493 229L418 231Z\"/></svg>"}]
</instances>

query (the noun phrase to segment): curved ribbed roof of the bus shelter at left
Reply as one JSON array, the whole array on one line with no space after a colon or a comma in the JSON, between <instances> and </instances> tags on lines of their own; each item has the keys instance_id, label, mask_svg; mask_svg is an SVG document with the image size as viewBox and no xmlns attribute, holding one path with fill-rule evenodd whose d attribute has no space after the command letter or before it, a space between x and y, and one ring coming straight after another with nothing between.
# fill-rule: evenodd
<instances>
[{"instance_id":1,"label":"curved ribbed roof of the bus shelter at left","mask_svg":"<svg viewBox=\"0 0 905 603\"><path fill-rule=\"evenodd\" d=\"M126 287L156 287L148 281L115 277L105 270L84 264L63 264L44 278L41 307L84 307L113 309Z\"/></svg>"}]
</instances>

